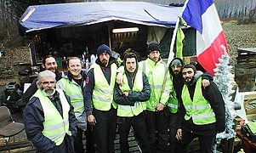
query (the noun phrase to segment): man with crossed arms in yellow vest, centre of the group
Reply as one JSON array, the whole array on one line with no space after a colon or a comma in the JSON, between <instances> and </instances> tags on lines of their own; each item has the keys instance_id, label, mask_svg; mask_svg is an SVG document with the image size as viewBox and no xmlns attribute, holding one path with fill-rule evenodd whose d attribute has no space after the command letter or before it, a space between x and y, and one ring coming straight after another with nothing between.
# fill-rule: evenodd
<instances>
[{"instance_id":1,"label":"man with crossed arms in yellow vest, centre of the group","mask_svg":"<svg viewBox=\"0 0 256 153\"><path fill-rule=\"evenodd\" d=\"M114 100L117 102L117 125L120 135L120 149L128 153L128 134L133 127L142 152L151 152L146 133L143 103L150 99L151 86L145 73L138 70L136 54L124 55L124 72L122 85L116 84Z\"/></svg>"}]
</instances>

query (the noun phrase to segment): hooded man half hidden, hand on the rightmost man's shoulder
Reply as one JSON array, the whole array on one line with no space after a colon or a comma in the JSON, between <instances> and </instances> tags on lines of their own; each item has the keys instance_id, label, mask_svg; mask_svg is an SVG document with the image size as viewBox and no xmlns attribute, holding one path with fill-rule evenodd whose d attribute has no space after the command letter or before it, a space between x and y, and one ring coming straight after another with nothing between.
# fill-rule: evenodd
<instances>
[{"instance_id":1,"label":"hooded man half hidden, hand on the rightmost man's shoulder","mask_svg":"<svg viewBox=\"0 0 256 153\"><path fill-rule=\"evenodd\" d=\"M169 149L175 152L176 147L176 132L178 122L178 109L181 99L181 91L184 86L181 69L184 66L184 61L179 58L174 58L168 66L167 79L165 82L164 90L160 102L168 107L170 112L169 118ZM207 87L209 80L213 81L213 77L209 73L202 74L201 71L196 71L196 76L202 75L202 86Z\"/></svg>"}]
</instances>

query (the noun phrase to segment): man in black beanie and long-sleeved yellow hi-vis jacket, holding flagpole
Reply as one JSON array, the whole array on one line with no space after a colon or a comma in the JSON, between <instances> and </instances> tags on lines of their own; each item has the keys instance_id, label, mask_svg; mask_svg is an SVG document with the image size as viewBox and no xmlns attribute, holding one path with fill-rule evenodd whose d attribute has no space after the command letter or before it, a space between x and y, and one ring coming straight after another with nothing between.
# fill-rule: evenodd
<instances>
[{"instance_id":1,"label":"man in black beanie and long-sleeved yellow hi-vis jacket, holding flagpole","mask_svg":"<svg viewBox=\"0 0 256 153\"><path fill-rule=\"evenodd\" d=\"M147 47L148 58L139 62L139 69L151 84L151 98L145 103L145 122L152 152L162 152L168 144L168 110L160 103L166 68L160 52L159 44L151 42Z\"/></svg>"}]
</instances>

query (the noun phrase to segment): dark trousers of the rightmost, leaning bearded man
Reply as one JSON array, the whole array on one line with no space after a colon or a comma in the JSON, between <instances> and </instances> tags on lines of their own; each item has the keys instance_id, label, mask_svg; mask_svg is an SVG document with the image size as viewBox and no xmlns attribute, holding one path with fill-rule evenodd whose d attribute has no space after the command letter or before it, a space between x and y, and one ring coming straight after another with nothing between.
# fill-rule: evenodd
<instances>
[{"instance_id":1,"label":"dark trousers of the rightmost, leaning bearded man","mask_svg":"<svg viewBox=\"0 0 256 153\"><path fill-rule=\"evenodd\" d=\"M200 150L202 153L213 153L213 144L215 141L215 135L204 136L191 133L186 130L182 130L182 140L177 141L176 152L187 152L187 146L193 139L198 137L200 143Z\"/></svg>"}]
</instances>

